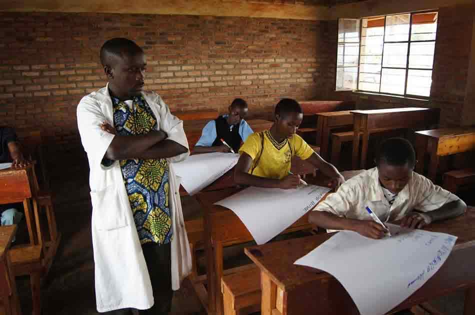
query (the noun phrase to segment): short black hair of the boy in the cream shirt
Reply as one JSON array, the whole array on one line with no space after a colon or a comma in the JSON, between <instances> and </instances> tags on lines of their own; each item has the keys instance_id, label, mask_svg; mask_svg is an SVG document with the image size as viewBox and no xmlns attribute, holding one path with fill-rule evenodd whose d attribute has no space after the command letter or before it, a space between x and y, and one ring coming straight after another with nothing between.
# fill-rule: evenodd
<instances>
[{"instance_id":1,"label":"short black hair of the boy in the cream shirt","mask_svg":"<svg viewBox=\"0 0 475 315\"><path fill-rule=\"evenodd\" d=\"M409 167L415 165L415 151L412 144L404 138L394 137L384 140L376 155L376 165L381 162L388 165L402 166L407 163Z\"/></svg>"}]
</instances>

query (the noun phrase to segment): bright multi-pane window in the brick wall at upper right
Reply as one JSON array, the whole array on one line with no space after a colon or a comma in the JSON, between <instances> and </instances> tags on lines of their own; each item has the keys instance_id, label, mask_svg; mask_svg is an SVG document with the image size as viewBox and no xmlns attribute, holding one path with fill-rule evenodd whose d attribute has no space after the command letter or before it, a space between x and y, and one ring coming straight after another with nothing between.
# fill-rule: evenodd
<instances>
[{"instance_id":1,"label":"bright multi-pane window in the brick wall at upper right","mask_svg":"<svg viewBox=\"0 0 475 315\"><path fill-rule=\"evenodd\" d=\"M341 19L346 21L347 19ZM340 29L338 21L338 55ZM357 79L349 65L337 62L336 89L357 89L403 96L429 96L437 29L437 12L417 12L362 18L359 34ZM345 30L344 33L353 33ZM343 36L344 38L344 36ZM342 41L345 47L346 41ZM348 70L347 70L348 68ZM354 65L351 71L355 71ZM343 78L341 78L343 77ZM343 84L341 84L343 81Z\"/></svg>"}]
</instances>

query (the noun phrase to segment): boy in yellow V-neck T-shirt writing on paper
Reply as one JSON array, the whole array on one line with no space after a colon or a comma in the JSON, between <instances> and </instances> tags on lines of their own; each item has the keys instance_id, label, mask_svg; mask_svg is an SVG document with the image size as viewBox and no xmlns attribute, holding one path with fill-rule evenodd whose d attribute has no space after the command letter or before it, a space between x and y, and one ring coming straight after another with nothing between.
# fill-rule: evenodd
<instances>
[{"instance_id":1,"label":"boy in yellow V-neck T-shirt writing on paper","mask_svg":"<svg viewBox=\"0 0 475 315\"><path fill-rule=\"evenodd\" d=\"M281 99L275 106L275 122L270 129L251 134L239 149L234 181L259 187L296 188L300 176L290 173L290 163L297 155L330 177L334 186L342 183L344 178L338 170L295 133L302 119L302 108L296 100Z\"/></svg>"}]
</instances>

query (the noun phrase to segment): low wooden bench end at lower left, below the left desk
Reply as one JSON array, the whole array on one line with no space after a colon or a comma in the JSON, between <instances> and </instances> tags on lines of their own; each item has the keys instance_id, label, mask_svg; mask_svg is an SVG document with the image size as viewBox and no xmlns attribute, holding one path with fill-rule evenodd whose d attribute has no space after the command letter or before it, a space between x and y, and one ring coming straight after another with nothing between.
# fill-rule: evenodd
<instances>
[{"instance_id":1,"label":"low wooden bench end at lower left, below the left desk","mask_svg":"<svg viewBox=\"0 0 475 315\"><path fill-rule=\"evenodd\" d=\"M41 245L18 245L9 251L11 267L15 276L29 275L32 298L32 315L41 314L41 273L43 266Z\"/></svg>"}]
</instances>

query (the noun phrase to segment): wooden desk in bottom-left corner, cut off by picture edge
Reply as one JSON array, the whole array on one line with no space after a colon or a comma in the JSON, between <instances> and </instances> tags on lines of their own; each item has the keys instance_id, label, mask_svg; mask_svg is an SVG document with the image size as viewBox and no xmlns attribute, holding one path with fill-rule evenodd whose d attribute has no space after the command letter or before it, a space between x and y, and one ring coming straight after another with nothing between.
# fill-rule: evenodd
<instances>
[{"instance_id":1,"label":"wooden desk in bottom-left corner, cut off by picture edge","mask_svg":"<svg viewBox=\"0 0 475 315\"><path fill-rule=\"evenodd\" d=\"M8 255L16 224L0 226L0 290L3 298L3 308L6 314L21 315L15 276L11 269Z\"/></svg>"}]
</instances>

